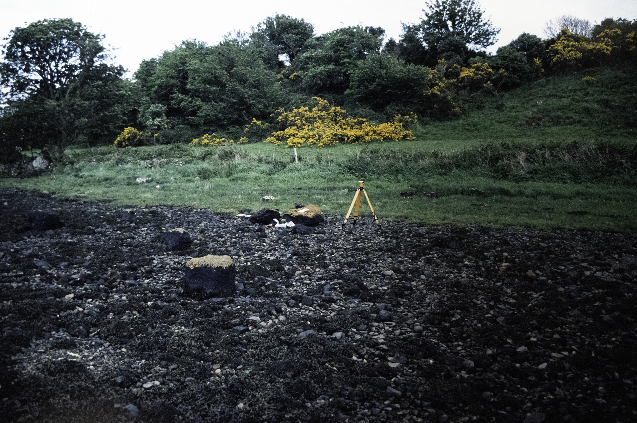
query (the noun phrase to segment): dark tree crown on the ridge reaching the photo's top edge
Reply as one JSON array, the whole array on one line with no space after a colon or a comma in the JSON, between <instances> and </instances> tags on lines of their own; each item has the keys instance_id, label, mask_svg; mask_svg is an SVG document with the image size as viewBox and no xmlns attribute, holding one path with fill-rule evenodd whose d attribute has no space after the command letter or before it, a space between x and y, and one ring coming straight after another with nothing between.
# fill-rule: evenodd
<instances>
[{"instance_id":1,"label":"dark tree crown on the ridge reaching the photo's top edge","mask_svg":"<svg viewBox=\"0 0 637 423\"><path fill-rule=\"evenodd\" d=\"M425 4L429 11L423 10L425 18L420 24L403 25L399 45L409 62L420 59L428 66L435 66L438 59L464 63L475 57L474 49L496 43L500 30L484 19L477 1L434 0Z\"/></svg>"}]
</instances>

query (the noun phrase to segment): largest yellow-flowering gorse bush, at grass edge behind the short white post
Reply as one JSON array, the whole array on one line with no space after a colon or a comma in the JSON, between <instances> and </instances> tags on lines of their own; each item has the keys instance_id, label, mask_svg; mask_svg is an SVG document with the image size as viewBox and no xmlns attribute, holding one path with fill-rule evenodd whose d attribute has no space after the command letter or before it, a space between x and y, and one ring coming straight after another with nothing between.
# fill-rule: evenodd
<instances>
[{"instance_id":1,"label":"largest yellow-flowering gorse bush, at grass edge behind the short white post","mask_svg":"<svg viewBox=\"0 0 637 423\"><path fill-rule=\"evenodd\" d=\"M338 142L356 144L415 139L413 132L403 127L399 116L394 118L394 122L376 125L366 119L347 118L341 107L330 107L329 102L318 97L313 99L317 105L311 109L299 107L290 112L278 109L276 130L264 142L273 142L277 146L285 142L289 147L301 147L303 144L327 147ZM408 118L415 120L415 115Z\"/></svg>"}]
</instances>

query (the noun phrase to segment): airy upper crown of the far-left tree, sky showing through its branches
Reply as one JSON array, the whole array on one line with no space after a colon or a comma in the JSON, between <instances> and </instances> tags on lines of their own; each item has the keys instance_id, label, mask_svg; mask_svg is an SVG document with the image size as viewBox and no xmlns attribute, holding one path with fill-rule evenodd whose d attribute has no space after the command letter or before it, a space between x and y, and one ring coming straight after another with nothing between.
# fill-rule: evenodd
<instances>
[{"instance_id":1,"label":"airy upper crown of the far-left tree, sky showing through its branches","mask_svg":"<svg viewBox=\"0 0 637 423\"><path fill-rule=\"evenodd\" d=\"M73 19L38 20L10 31L3 45L1 82L12 97L39 95L58 101L82 71L106 59L104 38Z\"/></svg>"}]
</instances>

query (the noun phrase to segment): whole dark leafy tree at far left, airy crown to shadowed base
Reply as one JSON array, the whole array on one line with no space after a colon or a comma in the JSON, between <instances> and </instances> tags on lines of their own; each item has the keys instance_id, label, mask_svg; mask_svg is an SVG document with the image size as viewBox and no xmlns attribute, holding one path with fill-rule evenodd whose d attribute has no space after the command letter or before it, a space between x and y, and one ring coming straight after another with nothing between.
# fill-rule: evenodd
<instances>
[{"instance_id":1,"label":"whole dark leafy tree at far left, airy crown to shadowed base","mask_svg":"<svg viewBox=\"0 0 637 423\"><path fill-rule=\"evenodd\" d=\"M43 148L59 159L73 142L112 142L131 118L132 87L123 67L105 63L103 38L71 19L10 32L0 64L3 144Z\"/></svg>"}]
</instances>

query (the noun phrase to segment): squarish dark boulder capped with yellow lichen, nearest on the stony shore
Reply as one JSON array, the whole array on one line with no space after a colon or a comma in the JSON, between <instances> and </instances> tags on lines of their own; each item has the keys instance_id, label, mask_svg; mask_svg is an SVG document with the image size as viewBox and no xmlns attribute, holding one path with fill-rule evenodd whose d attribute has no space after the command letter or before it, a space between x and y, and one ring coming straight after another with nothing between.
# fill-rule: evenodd
<instances>
[{"instance_id":1,"label":"squarish dark boulder capped with yellow lichen, nearest on the stony shore","mask_svg":"<svg viewBox=\"0 0 637 423\"><path fill-rule=\"evenodd\" d=\"M186 263L183 293L195 298L230 296L234 292L233 259L230 256L204 256Z\"/></svg>"}]
</instances>

